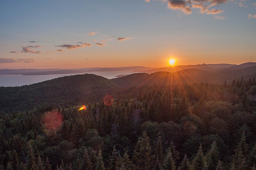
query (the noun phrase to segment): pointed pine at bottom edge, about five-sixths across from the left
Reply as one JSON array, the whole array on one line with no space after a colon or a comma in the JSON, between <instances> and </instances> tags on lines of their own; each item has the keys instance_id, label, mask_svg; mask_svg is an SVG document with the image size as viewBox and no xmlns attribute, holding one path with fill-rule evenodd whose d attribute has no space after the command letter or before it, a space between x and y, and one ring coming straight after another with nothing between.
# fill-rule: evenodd
<instances>
[{"instance_id":1,"label":"pointed pine at bottom edge, about five-sixths across from the left","mask_svg":"<svg viewBox=\"0 0 256 170\"><path fill-rule=\"evenodd\" d=\"M205 159L206 159L207 169L215 170L218 165L218 161L220 159L216 141L212 142L211 148L208 150L205 156Z\"/></svg>"}]
</instances>

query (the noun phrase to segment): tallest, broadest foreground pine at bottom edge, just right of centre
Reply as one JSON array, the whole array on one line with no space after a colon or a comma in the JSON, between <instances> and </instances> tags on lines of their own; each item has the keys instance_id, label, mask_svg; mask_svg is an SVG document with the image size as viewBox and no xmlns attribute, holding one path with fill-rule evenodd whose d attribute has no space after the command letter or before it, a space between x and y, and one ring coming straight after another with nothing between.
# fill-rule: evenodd
<instances>
[{"instance_id":1,"label":"tallest, broadest foreground pine at bottom edge, just right of centre","mask_svg":"<svg viewBox=\"0 0 256 170\"><path fill-rule=\"evenodd\" d=\"M142 137L138 139L133 153L133 160L136 162L138 170L149 170L151 166L152 156L150 155L151 146L149 137L146 132L143 132Z\"/></svg>"}]
</instances>

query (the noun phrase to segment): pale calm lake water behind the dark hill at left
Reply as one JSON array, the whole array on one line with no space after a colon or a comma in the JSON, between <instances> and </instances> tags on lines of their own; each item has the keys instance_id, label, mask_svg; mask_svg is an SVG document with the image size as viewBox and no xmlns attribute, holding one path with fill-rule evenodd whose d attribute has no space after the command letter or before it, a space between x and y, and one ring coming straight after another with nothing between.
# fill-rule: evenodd
<instances>
[{"instance_id":1,"label":"pale calm lake water behind the dark hill at left","mask_svg":"<svg viewBox=\"0 0 256 170\"><path fill-rule=\"evenodd\" d=\"M137 72L110 71L110 72L90 72L89 74L96 74L98 76L111 79L121 74L133 74L133 73L137 73ZM4 87L23 86L23 85L34 84L34 83L43 82L43 81L51 80L58 77L71 76L71 75L76 75L76 74L52 74L52 75L32 75L32 76L0 75L0 86L4 86Z\"/></svg>"}]
</instances>

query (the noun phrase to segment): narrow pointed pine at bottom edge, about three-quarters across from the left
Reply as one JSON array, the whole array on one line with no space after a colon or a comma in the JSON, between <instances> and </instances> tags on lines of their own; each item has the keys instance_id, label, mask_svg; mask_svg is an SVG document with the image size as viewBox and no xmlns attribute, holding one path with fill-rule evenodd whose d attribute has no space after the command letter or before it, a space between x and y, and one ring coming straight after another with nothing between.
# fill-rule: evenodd
<instances>
[{"instance_id":1,"label":"narrow pointed pine at bottom edge, about three-quarters across from the left","mask_svg":"<svg viewBox=\"0 0 256 170\"><path fill-rule=\"evenodd\" d=\"M192 170L204 170L206 167L205 160L204 160L204 153L202 150L202 144L200 144L199 149L197 151L196 157L192 162Z\"/></svg>"}]
</instances>

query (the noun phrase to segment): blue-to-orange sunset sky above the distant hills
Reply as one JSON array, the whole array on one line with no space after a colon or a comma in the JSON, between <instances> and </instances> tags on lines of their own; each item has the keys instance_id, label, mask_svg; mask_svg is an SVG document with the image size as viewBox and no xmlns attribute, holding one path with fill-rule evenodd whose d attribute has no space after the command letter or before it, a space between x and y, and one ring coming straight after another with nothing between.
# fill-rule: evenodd
<instances>
[{"instance_id":1,"label":"blue-to-orange sunset sky above the distant hills","mask_svg":"<svg viewBox=\"0 0 256 170\"><path fill-rule=\"evenodd\" d=\"M256 0L0 0L0 69L256 62Z\"/></svg>"}]
</instances>

